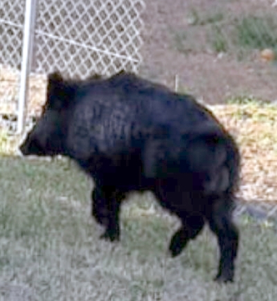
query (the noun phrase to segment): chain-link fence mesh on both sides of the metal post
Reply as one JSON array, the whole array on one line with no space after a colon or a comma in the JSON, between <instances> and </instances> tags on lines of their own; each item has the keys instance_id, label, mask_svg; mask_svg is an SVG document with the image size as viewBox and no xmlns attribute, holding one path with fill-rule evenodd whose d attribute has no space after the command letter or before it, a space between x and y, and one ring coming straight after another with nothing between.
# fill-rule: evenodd
<instances>
[{"instance_id":1,"label":"chain-link fence mesh on both sides of the metal post","mask_svg":"<svg viewBox=\"0 0 277 301\"><path fill-rule=\"evenodd\" d=\"M2 125L15 130L23 47L25 1L0 5L0 113ZM28 115L44 102L45 75L111 75L138 71L143 0L37 1L30 62Z\"/></svg>"}]
</instances>

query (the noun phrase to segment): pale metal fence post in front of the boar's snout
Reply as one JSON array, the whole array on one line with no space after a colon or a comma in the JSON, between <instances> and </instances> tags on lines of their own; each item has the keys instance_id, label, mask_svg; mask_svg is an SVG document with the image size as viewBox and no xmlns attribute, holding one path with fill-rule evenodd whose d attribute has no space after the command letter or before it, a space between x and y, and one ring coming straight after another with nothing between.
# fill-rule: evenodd
<instances>
[{"instance_id":1,"label":"pale metal fence post in front of the boar's snout","mask_svg":"<svg viewBox=\"0 0 277 301\"><path fill-rule=\"evenodd\" d=\"M30 60L33 55L33 39L35 36L35 15L37 0L26 0L24 41L22 47L20 89L17 111L17 134L24 129L26 98L28 95L28 80L30 74Z\"/></svg>"}]
</instances>

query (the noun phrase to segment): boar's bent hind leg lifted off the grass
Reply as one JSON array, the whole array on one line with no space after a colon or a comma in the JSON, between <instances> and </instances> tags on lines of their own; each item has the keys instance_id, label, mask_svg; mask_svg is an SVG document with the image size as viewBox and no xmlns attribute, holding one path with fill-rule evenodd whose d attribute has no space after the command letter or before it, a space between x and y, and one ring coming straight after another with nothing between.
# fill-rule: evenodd
<instances>
[{"instance_id":1,"label":"boar's bent hind leg lifted off the grass","mask_svg":"<svg viewBox=\"0 0 277 301\"><path fill-rule=\"evenodd\" d=\"M204 218L201 215L187 215L182 217L182 226L175 232L170 241L170 253L176 257L186 247L190 239L197 237L204 227Z\"/></svg>"}]
</instances>

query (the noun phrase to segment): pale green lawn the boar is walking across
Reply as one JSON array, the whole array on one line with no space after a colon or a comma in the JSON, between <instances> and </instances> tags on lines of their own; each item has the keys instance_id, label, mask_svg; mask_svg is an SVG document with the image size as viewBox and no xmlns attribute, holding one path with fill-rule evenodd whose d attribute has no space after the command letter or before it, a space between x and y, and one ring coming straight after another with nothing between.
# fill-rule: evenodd
<instances>
[{"instance_id":1,"label":"pale green lawn the boar is walking across","mask_svg":"<svg viewBox=\"0 0 277 301\"><path fill-rule=\"evenodd\" d=\"M217 245L209 230L179 257L167 254L177 219L150 210L150 193L123 206L122 239L98 239L91 181L74 165L1 157L0 293L6 300L276 300L277 234L239 219L234 284L212 281ZM14 299L12 299L14 298ZM27 299L25 299L27 300Z\"/></svg>"}]
</instances>

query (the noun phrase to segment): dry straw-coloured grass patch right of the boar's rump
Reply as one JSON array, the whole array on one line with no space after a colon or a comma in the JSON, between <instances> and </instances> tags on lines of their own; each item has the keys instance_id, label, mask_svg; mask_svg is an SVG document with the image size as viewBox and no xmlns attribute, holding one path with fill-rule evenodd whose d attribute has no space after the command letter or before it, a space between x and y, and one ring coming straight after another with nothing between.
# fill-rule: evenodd
<instances>
[{"instance_id":1,"label":"dry straw-coloured grass patch right of the boar's rump","mask_svg":"<svg viewBox=\"0 0 277 301\"><path fill-rule=\"evenodd\" d=\"M240 145L240 195L246 200L277 201L277 106L250 102L211 109Z\"/></svg>"}]
</instances>

